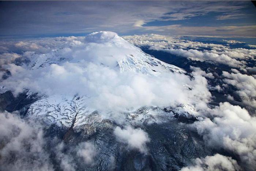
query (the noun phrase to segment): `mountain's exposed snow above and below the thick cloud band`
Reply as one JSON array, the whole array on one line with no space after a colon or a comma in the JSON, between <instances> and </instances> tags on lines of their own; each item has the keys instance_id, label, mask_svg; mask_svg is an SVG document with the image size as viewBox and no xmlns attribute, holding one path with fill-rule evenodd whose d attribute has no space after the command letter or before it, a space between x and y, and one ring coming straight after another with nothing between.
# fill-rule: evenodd
<instances>
[{"instance_id":1,"label":"mountain's exposed snow above and below the thick cloud band","mask_svg":"<svg viewBox=\"0 0 256 171\"><path fill-rule=\"evenodd\" d=\"M86 78L82 77L82 79L88 80L88 77L94 74L94 71L90 72L88 69L92 64L95 70L97 68L107 68L106 71L114 71L114 74L112 72L109 73L109 77L112 77L111 74L115 77L116 73L133 73L135 74L134 76L138 73L149 77L159 76L161 74L168 75L169 73L177 73L177 77L184 77L186 74L186 71L183 69L166 64L142 52L141 49L125 41L113 32L100 31L89 34L86 37L76 39L71 37L70 39L72 39L71 43L61 43L56 46L57 49L53 49L49 53L31 53L23 57L23 60L19 60L22 61L19 65L23 67L23 70L28 71L25 72L26 76L35 75L31 77L34 80L37 80L38 77L43 77L43 81L37 81L36 86L30 88L25 85L23 87L26 90L29 89L28 94L39 93L39 98L37 96L38 100L28 107L25 117L40 118L48 124L55 124L64 128L72 127L77 130L83 129L87 130L88 133L93 132L96 125L104 122L105 119L109 119L110 121L114 120L115 122L125 122L132 125L164 122L176 118L196 119L197 112L192 103L177 103L175 108L173 105L142 105L134 107L129 106L128 108L124 108L124 110L105 110L102 108L99 110L97 107L88 105L92 103L91 98L93 96L89 91L82 91L82 94L68 94L67 91L69 91L69 88L65 88L64 91L58 91L58 87L56 89L56 85L58 84L54 84L54 87L52 87L56 93L54 91L50 91L50 93L40 92L40 88L37 91L34 87L42 86L40 84L46 85L43 87L45 89L51 88L47 87L48 84L51 84L47 79L54 76L56 76L56 79L65 77L66 71L69 71L69 73L78 73L78 75L80 72L85 72L89 76ZM71 67L65 68L63 66ZM86 68L85 71L81 71L84 68ZM69 77L74 77L72 81L78 83L83 81L81 77L76 76L75 74ZM95 79L97 79L97 75L95 77ZM44 82L44 80L46 80L46 82ZM52 79L51 81L54 82ZM102 87L109 86L107 84L104 85L105 81L99 83L102 84L96 85ZM83 84L81 83L81 85L80 87L83 89ZM67 86L72 86L72 84L67 84ZM183 87L186 91L192 89L190 85L182 82L181 85L178 86ZM71 89L72 88L70 88L70 90ZM84 89L86 89L86 87L84 87ZM122 90L121 88L121 91ZM124 91L127 91L127 89L124 88ZM84 92L88 92L89 94ZM123 103L120 103L120 105L122 104ZM168 104L168 102L163 104Z\"/></svg>"}]
</instances>

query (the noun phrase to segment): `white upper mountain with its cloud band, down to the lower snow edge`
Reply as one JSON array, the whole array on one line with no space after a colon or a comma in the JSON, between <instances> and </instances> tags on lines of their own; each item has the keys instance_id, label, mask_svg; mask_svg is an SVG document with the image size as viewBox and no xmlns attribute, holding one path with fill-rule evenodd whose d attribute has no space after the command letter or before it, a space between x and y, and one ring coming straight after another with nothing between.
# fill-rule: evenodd
<instances>
[{"instance_id":1,"label":"white upper mountain with its cloud band, down to the lower snow edge","mask_svg":"<svg viewBox=\"0 0 256 171\"><path fill-rule=\"evenodd\" d=\"M114 113L125 111L128 121L136 116L136 122L149 123L172 119L176 113L195 116L193 104L209 98L207 92L204 99L197 98L206 87L204 78L191 80L183 69L144 53L116 33L54 40L54 49L27 53L23 65L10 65L12 75L3 81L16 95L22 90L43 95L30 105L27 117L76 127L87 124L91 116L113 119ZM166 106L179 110L170 115L163 111Z\"/></svg>"}]
</instances>

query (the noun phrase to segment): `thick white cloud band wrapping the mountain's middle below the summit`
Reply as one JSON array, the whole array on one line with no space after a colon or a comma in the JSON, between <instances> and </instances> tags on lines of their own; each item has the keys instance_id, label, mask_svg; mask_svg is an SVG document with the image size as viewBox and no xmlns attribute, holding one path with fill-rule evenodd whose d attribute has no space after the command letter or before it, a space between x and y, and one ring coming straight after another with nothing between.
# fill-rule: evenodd
<instances>
[{"instance_id":1,"label":"thick white cloud band wrapping the mountain's middle below the summit","mask_svg":"<svg viewBox=\"0 0 256 171\"><path fill-rule=\"evenodd\" d=\"M81 65L69 62L62 66L52 64L44 69L12 74L3 81L3 85L11 88L14 94L22 92L23 88L47 95L64 92L72 96L79 93L90 96L91 107L97 109L175 105L191 102L193 95L204 93L201 100L194 99L203 102L211 96L206 88L207 81L201 75L190 80L186 75L170 73L155 79L154 76L140 73L116 72L92 63ZM192 86L193 90L181 86L186 84Z\"/></svg>"}]
</instances>

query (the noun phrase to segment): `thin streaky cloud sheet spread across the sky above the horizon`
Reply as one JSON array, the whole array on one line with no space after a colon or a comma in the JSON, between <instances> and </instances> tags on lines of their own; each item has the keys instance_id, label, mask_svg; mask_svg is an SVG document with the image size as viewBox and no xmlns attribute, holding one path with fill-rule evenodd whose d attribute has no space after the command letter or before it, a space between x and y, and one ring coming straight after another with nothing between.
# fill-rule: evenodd
<instances>
[{"instance_id":1,"label":"thin streaky cloud sheet spread across the sky above the horizon","mask_svg":"<svg viewBox=\"0 0 256 171\"><path fill-rule=\"evenodd\" d=\"M148 3L139 1L121 1L121 2L98 2L90 3L74 2L72 6L64 2L54 2L52 4L36 2L29 7L16 5L16 10L12 10L8 5L5 6L5 16L2 19L2 35L30 35L30 34L56 34L56 33L89 33L99 28L101 30L112 30L118 33L131 33L136 31L145 33L148 29L156 32L159 29L164 33L170 33L169 27L132 27L138 20L144 20L145 23L152 21L173 21L187 20L196 16L206 15L209 12L218 12L225 14L240 14L248 3L228 3L228 2L173 2L173 1L150 1ZM186 8L184 8L186 7ZM52 10L54 9L54 10ZM20 12L24 15L20 15ZM56 12L58 11L58 12ZM241 12L242 11L242 12ZM40 14L44 14L44 18ZM252 16L251 16L252 17ZM51 21L45 20L51 18ZM86 18L86 20L84 19ZM215 16L214 16L215 18ZM29 20L30 23L26 21ZM13 22L8 22L13 21ZM15 22L22 21L22 22ZM40 23L40 24L38 24ZM218 27L179 27L178 30L172 30L173 34L200 33L206 35L211 33L219 34ZM184 30L185 29L185 30ZM221 28L219 28L221 30ZM198 31L197 31L198 30ZM209 30L209 31L208 31ZM234 30L223 31L225 34L236 34ZM250 35L254 31L243 32Z\"/></svg>"}]
</instances>

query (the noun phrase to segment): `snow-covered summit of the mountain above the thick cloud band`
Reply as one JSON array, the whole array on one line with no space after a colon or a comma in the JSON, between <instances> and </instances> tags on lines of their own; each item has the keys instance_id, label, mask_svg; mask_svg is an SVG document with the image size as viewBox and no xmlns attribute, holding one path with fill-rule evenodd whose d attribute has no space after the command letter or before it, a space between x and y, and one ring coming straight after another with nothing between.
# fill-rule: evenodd
<instances>
[{"instance_id":1,"label":"snow-covered summit of the mountain above the thick cloud band","mask_svg":"<svg viewBox=\"0 0 256 171\"><path fill-rule=\"evenodd\" d=\"M27 69L44 68L52 64L63 65L65 62L79 65L90 62L120 72L135 71L149 75L163 72L185 73L181 68L142 52L140 48L110 31L94 32L86 37L69 37L65 43L56 47L50 53L31 54Z\"/></svg>"}]
</instances>

